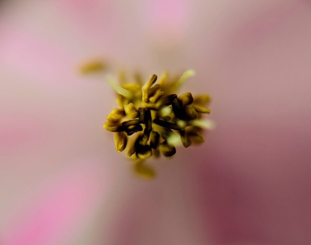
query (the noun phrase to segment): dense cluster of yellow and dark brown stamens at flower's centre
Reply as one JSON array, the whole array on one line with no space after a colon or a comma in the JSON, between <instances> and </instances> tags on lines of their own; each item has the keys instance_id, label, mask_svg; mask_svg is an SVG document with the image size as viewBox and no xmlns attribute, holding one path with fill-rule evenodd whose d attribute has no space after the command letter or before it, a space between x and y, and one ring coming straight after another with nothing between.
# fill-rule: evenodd
<instances>
[{"instance_id":1,"label":"dense cluster of yellow and dark brown stamens at flower's centre","mask_svg":"<svg viewBox=\"0 0 311 245\"><path fill-rule=\"evenodd\" d=\"M208 95L193 97L191 93L177 96L173 93L194 72L188 70L179 79L167 78L157 81L157 76L141 84L120 82L116 84L107 78L117 92L119 108L106 117L104 129L114 132L114 144L118 152L127 148L127 155L133 159L146 159L152 155L171 157L179 144L188 147L191 143L204 141L201 132L207 121L202 114L209 114L206 108Z\"/></svg>"}]
</instances>

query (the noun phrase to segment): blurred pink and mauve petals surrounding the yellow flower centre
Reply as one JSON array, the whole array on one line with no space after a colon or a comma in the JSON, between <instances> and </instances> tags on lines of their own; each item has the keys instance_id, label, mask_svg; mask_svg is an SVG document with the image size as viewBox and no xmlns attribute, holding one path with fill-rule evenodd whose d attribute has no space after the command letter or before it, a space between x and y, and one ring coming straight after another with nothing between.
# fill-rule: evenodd
<instances>
[{"instance_id":1,"label":"blurred pink and mauve petals surrounding the yellow flower centre","mask_svg":"<svg viewBox=\"0 0 311 245\"><path fill-rule=\"evenodd\" d=\"M0 2L0 244L311 244L309 1ZM133 175L76 65L197 71L217 128Z\"/></svg>"}]
</instances>

